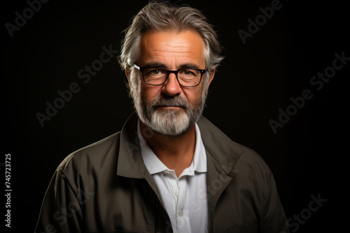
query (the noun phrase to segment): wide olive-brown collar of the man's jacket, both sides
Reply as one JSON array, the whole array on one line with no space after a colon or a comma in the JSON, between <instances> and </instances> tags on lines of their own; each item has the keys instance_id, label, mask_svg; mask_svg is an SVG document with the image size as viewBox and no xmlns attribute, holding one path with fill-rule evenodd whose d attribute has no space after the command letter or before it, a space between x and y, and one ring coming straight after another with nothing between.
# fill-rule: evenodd
<instances>
[{"instance_id":1,"label":"wide olive-brown collar of the man's jacket, both sides","mask_svg":"<svg viewBox=\"0 0 350 233\"><path fill-rule=\"evenodd\" d=\"M137 117L134 112L125 122L120 133L120 149L118 156L119 176L142 179L145 173L148 173L144 160L141 156L141 147L137 136ZM234 175L233 167L239 156L241 156L240 146L232 142L230 138L219 130L213 123L205 117L197 122L200 127L204 147L207 151L207 157L211 157L216 163L215 170L220 174L227 174L232 177ZM214 169L214 167L211 167ZM208 165L208 172L209 169Z\"/></svg>"}]
</instances>

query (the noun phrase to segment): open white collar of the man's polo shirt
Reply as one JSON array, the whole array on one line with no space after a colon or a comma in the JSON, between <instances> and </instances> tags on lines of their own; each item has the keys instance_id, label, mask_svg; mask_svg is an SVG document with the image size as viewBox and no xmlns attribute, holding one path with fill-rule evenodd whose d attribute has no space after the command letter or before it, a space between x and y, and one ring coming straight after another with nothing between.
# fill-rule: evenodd
<instances>
[{"instance_id":1,"label":"open white collar of the man's polo shirt","mask_svg":"<svg viewBox=\"0 0 350 233\"><path fill-rule=\"evenodd\" d=\"M195 154L193 156L193 161L190 165L196 172L207 172L207 156L205 153L204 144L202 142L202 137L200 134L200 128L195 124L196 132L196 144L195 144ZM155 155L152 149L148 146L144 136L141 133L140 121L137 122L137 135L139 136L139 143L141 147L141 155L144 159L144 163L150 174L155 174L158 172L164 172L169 170L162 161Z\"/></svg>"}]
</instances>

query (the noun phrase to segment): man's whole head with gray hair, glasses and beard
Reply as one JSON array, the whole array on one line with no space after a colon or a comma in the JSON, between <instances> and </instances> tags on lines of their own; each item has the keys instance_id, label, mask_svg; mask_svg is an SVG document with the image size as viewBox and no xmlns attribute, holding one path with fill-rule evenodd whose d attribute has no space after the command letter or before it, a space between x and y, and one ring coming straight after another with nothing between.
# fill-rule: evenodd
<instances>
[{"instance_id":1,"label":"man's whole head with gray hair, glasses and beard","mask_svg":"<svg viewBox=\"0 0 350 233\"><path fill-rule=\"evenodd\" d=\"M140 10L120 54L140 120L163 135L186 133L202 115L220 52L216 32L199 10L157 2Z\"/></svg>"}]
</instances>

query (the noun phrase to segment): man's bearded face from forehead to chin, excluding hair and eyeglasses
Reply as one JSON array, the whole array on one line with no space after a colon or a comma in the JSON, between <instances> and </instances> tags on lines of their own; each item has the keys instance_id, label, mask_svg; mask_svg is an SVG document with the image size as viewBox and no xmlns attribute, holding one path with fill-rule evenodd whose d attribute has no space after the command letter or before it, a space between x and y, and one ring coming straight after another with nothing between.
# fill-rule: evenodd
<instances>
[{"instance_id":1,"label":"man's bearded face from forehead to chin, excluding hair and eyeglasses","mask_svg":"<svg viewBox=\"0 0 350 233\"><path fill-rule=\"evenodd\" d=\"M141 37L140 48L139 67L206 68L204 42L194 31L147 31ZM181 87L174 73L165 84L152 86L139 82L141 72L134 69L139 78L131 80L130 89L141 121L163 135L186 133L202 115L207 88L214 77L214 70L211 71L207 87L208 73L197 87Z\"/></svg>"}]
</instances>

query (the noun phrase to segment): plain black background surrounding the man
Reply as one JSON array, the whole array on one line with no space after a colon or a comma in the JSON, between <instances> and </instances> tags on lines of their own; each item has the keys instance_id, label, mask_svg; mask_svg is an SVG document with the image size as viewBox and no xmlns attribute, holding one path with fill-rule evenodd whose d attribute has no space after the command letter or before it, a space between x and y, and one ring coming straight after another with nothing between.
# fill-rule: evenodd
<instances>
[{"instance_id":1,"label":"plain black background surrounding the man","mask_svg":"<svg viewBox=\"0 0 350 233\"><path fill-rule=\"evenodd\" d=\"M29 0L30 1L30 0ZM175 2L175 1L172 1ZM218 31L225 59L211 83L204 116L232 140L258 151L271 168L287 218L307 213L311 195L327 201L293 232L345 228L350 61L316 91L311 77L350 57L349 10L340 1L281 0L281 9L243 44L237 31L272 1L178 1L204 11ZM102 47L120 50L122 31L147 1L48 1L10 36L26 1L2 3L2 158L11 154L11 228L34 232L52 174L71 152L119 131L133 112L125 75L116 61L86 84L78 71L99 59ZM339 64L339 63L337 63ZM36 114L57 91L80 91L41 127ZM269 120L304 89L311 100L276 133ZM1 165L1 174L4 176ZM4 190L6 188L3 188ZM1 206L5 205L5 201ZM1 216L5 214L3 207ZM3 217L4 218L4 217ZM291 223L297 223L292 220ZM5 223L2 223L5 225ZM7 232L7 231L6 231Z\"/></svg>"}]
</instances>

